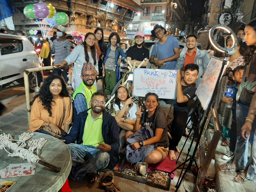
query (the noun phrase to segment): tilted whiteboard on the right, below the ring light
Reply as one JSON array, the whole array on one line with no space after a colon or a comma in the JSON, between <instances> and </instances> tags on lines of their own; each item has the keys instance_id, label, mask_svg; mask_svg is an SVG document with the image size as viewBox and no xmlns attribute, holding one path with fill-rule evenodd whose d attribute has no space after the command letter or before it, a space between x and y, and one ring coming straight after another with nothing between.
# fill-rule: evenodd
<instances>
[{"instance_id":1,"label":"tilted whiteboard on the right, below the ring light","mask_svg":"<svg viewBox=\"0 0 256 192\"><path fill-rule=\"evenodd\" d=\"M222 66L222 61L221 59L217 58L217 57L212 57L206 70L205 73L202 77L202 80L200 82L200 84L198 85L198 88L196 90L196 95L197 98L199 99L202 108L204 110L207 109L210 100L212 98L212 94L214 91L214 88L217 84L217 80L218 80L218 76L220 74L220 70L221 70L221 66ZM222 75L225 72L227 65L224 66L224 69L222 71Z\"/></svg>"}]
</instances>

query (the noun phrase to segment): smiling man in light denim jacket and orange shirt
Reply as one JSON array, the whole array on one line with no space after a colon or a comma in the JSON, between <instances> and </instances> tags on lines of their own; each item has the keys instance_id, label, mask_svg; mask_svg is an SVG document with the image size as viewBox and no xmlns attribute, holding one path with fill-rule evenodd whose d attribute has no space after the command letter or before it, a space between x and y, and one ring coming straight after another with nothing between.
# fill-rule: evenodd
<instances>
[{"instance_id":1,"label":"smiling man in light denim jacket and orange shirt","mask_svg":"<svg viewBox=\"0 0 256 192\"><path fill-rule=\"evenodd\" d=\"M199 67L198 72L198 79L196 80L196 88L198 87L199 83L201 82L201 77L205 72L205 69L208 66L210 58L208 54L200 49L196 48L197 44L197 37L193 34L187 36L186 40L186 47L188 50L184 55L181 55L178 59L178 63L175 69L181 69L182 67L186 67L189 63L195 63Z\"/></svg>"}]
</instances>

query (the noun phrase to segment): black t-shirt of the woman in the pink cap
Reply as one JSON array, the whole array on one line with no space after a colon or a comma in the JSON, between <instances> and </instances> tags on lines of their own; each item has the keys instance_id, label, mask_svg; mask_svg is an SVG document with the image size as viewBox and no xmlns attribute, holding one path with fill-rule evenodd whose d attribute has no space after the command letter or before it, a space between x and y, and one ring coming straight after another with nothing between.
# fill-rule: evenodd
<instances>
[{"instance_id":1,"label":"black t-shirt of the woman in the pink cap","mask_svg":"<svg viewBox=\"0 0 256 192\"><path fill-rule=\"evenodd\" d=\"M143 61L145 58L149 59L149 50L145 47L138 48L137 46L131 46L127 50L126 57L131 57L132 60L135 59L137 61ZM131 63L133 65L133 63ZM140 68L146 68L146 67L140 67Z\"/></svg>"}]
</instances>

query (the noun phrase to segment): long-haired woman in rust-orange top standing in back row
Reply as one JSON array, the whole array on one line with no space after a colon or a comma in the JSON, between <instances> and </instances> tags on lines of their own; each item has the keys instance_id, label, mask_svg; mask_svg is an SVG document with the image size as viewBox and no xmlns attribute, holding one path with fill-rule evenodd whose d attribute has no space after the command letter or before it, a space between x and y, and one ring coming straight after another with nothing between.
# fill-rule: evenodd
<instances>
[{"instance_id":1,"label":"long-haired woman in rust-orange top standing in back row","mask_svg":"<svg viewBox=\"0 0 256 192\"><path fill-rule=\"evenodd\" d=\"M102 65L103 60L102 56L104 54L104 37L103 37L103 30L99 27L97 27L94 31L95 35L95 43L94 47L97 51L97 58L98 58L98 66L99 66L99 77L102 76L102 70L104 69L104 65ZM98 81L98 78L96 78L96 81Z\"/></svg>"}]
</instances>

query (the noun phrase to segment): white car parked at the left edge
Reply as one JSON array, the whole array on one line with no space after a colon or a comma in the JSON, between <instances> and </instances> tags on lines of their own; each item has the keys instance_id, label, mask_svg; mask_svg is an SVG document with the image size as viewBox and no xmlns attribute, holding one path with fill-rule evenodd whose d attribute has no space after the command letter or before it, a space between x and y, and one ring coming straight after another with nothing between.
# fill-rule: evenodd
<instances>
[{"instance_id":1,"label":"white car parked at the left edge","mask_svg":"<svg viewBox=\"0 0 256 192\"><path fill-rule=\"evenodd\" d=\"M25 69L41 67L35 48L25 36L0 33L0 89L24 84ZM42 73L29 74L29 88L33 91L43 80Z\"/></svg>"}]
</instances>

